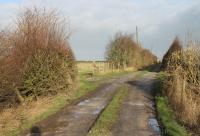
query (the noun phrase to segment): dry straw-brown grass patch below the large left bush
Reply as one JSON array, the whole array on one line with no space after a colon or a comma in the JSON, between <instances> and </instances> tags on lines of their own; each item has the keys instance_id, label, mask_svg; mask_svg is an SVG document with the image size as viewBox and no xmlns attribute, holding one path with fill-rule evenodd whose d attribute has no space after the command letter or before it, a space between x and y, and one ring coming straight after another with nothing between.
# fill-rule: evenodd
<instances>
[{"instance_id":1,"label":"dry straw-brown grass patch below the large left bush","mask_svg":"<svg viewBox=\"0 0 200 136\"><path fill-rule=\"evenodd\" d=\"M0 113L0 135L9 134L25 122L34 120L49 109L52 104L50 98L43 98L31 103L24 103L17 108L4 109Z\"/></svg>"}]
</instances>

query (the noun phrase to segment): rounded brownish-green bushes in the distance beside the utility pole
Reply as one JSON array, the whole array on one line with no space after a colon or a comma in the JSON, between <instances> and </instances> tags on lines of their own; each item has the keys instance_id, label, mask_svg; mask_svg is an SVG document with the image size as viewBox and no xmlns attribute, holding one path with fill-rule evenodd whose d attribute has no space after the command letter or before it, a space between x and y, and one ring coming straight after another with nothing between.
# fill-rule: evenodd
<instances>
[{"instance_id":1,"label":"rounded brownish-green bushes in the distance beside the utility pole","mask_svg":"<svg viewBox=\"0 0 200 136\"><path fill-rule=\"evenodd\" d=\"M149 50L137 45L131 35L117 33L107 45L106 60L116 69L140 69L156 63L157 58Z\"/></svg>"}]
</instances>

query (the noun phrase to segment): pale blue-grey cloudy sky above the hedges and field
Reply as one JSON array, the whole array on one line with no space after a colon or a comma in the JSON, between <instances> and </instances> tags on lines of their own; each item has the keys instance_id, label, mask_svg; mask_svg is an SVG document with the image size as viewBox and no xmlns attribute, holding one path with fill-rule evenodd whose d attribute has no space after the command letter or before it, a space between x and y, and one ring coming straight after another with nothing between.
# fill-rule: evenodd
<instances>
[{"instance_id":1,"label":"pale blue-grey cloudy sky above the hedges and field","mask_svg":"<svg viewBox=\"0 0 200 136\"><path fill-rule=\"evenodd\" d=\"M159 58L176 36L200 39L199 0L0 0L0 29L12 27L26 7L57 9L69 20L70 46L77 60L103 60L117 32L135 34Z\"/></svg>"}]
</instances>

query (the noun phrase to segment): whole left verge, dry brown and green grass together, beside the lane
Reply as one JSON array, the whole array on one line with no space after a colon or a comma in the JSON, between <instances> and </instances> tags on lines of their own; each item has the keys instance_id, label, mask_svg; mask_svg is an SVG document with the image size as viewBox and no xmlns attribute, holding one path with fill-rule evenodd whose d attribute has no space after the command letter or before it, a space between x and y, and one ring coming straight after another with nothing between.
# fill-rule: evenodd
<instances>
[{"instance_id":1,"label":"whole left verge, dry brown and green grass together, beside the lane","mask_svg":"<svg viewBox=\"0 0 200 136\"><path fill-rule=\"evenodd\" d=\"M95 90L106 79L128 73L130 72L112 72L95 75L91 78L81 73L79 74L79 87L77 91L72 92L70 95L60 94L25 103L17 108L6 109L0 113L0 135L18 136L22 131L31 128L34 123L47 118L58 112L62 107L69 105L72 101Z\"/></svg>"}]
</instances>

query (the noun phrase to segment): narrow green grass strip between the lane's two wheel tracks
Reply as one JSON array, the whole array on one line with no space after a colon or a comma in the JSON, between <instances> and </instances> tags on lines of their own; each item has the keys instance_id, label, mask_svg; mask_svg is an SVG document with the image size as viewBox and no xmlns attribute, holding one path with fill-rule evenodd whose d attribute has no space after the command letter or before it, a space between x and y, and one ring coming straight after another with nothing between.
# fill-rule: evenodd
<instances>
[{"instance_id":1,"label":"narrow green grass strip between the lane's two wheel tracks","mask_svg":"<svg viewBox=\"0 0 200 136\"><path fill-rule=\"evenodd\" d=\"M125 96L127 95L127 87L122 87L113 97L110 104L102 112L99 119L91 129L88 136L109 136L113 124L117 121L119 109Z\"/></svg>"}]
</instances>

